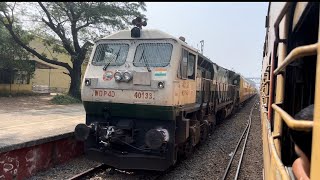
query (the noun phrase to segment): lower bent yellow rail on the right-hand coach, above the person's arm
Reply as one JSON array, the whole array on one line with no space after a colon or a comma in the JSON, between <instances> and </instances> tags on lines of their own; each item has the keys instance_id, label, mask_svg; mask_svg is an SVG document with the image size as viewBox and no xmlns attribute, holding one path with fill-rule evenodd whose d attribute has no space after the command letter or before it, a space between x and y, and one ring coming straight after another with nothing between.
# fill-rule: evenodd
<instances>
[{"instance_id":1,"label":"lower bent yellow rail on the right-hand coach, above the person's arm","mask_svg":"<svg viewBox=\"0 0 320 180\"><path fill-rule=\"evenodd\" d=\"M312 121L296 120L276 104L272 104L272 108L281 116L288 127L293 130L307 131L313 127Z\"/></svg>"}]
</instances>

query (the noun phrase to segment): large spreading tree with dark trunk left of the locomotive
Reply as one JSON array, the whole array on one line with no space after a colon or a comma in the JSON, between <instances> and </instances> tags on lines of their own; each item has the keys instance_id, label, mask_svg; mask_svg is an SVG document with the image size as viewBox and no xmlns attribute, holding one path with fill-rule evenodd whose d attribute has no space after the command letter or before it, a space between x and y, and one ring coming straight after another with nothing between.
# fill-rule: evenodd
<instances>
[{"instance_id":1,"label":"large spreading tree with dark trunk left of the locomotive","mask_svg":"<svg viewBox=\"0 0 320 180\"><path fill-rule=\"evenodd\" d=\"M68 94L76 98L80 98L81 65L90 46L90 43L84 42L109 33L110 29L123 29L135 17L145 17L140 10L146 11L143 2L29 2L23 6L22 4L0 2L0 22L15 42L25 50L44 62L67 69L67 74L71 78ZM23 7L27 8L19 9ZM59 39L63 48L54 45L53 50L69 54L72 65L50 59L46 54L37 52L22 41L20 33L15 29L22 23L16 17L17 8L19 12L24 12L21 14L22 17L32 18L29 31L32 34L45 36L45 44L53 44L55 39Z\"/></svg>"}]
</instances>

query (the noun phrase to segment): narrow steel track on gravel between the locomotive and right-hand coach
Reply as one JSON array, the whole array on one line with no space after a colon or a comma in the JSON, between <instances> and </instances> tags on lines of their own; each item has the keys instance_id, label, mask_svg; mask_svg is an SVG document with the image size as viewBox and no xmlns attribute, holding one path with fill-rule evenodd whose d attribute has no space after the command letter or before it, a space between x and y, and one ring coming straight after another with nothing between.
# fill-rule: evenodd
<instances>
[{"instance_id":1,"label":"narrow steel track on gravel between the locomotive and right-hand coach","mask_svg":"<svg viewBox=\"0 0 320 180\"><path fill-rule=\"evenodd\" d=\"M244 151L245 151L245 148L246 148L246 144L247 144L247 139L248 139L248 136L249 136L249 133L250 133L252 112L254 110L254 107L256 106L256 103L257 103L257 100L254 101L254 104L251 107L247 126L243 130L242 135L240 136L240 138L238 140L238 143L237 143L236 147L234 148L234 150L232 152L231 158L230 158L230 160L228 162L228 165L227 165L227 167L226 167L226 169L224 171L223 177L222 177L223 180L225 180L227 178L228 173L230 172L231 164L232 164L233 160L235 159L235 155L237 153L239 145L241 144L241 142L243 142L241 155L239 157L238 164L237 164L237 171L235 172L235 175L234 175L234 179L238 179L238 176L239 176L239 173L240 173L240 168L241 168L241 163L242 163L242 159L243 159L243 154L244 154ZM243 138L244 135L245 135L245 138ZM230 174L231 173L229 173L229 177L231 176Z\"/></svg>"}]
</instances>

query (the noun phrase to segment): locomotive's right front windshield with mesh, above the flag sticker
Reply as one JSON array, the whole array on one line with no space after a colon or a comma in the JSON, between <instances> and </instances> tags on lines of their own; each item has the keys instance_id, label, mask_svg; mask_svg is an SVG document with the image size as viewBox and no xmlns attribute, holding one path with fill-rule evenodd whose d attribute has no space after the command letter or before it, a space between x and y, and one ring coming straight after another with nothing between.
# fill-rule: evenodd
<instances>
[{"instance_id":1,"label":"locomotive's right front windshield with mesh, above the flag sticker","mask_svg":"<svg viewBox=\"0 0 320 180\"><path fill-rule=\"evenodd\" d=\"M172 44L170 43L142 43L139 44L134 55L133 65L138 67L165 67L169 65Z\"/></svg>"}]
</instances>

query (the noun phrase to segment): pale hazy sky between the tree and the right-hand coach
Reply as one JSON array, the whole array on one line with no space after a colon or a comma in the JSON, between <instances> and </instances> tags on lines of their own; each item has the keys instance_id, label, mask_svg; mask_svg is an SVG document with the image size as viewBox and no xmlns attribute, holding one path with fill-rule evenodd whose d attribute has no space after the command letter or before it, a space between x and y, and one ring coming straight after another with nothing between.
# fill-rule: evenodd
<instances>
[{"instance_id":1,"label":"pale hazy sky between the tree and the right-hand coach","mask_svg":"<svg viewBox=\"0 0 320 180\"><path fill-rule=\"evenodd\" d=\"M146 2L146 29L159 29L200 50L216 64L260 77L268 2Z\"/></svg>"}]
</instances>

